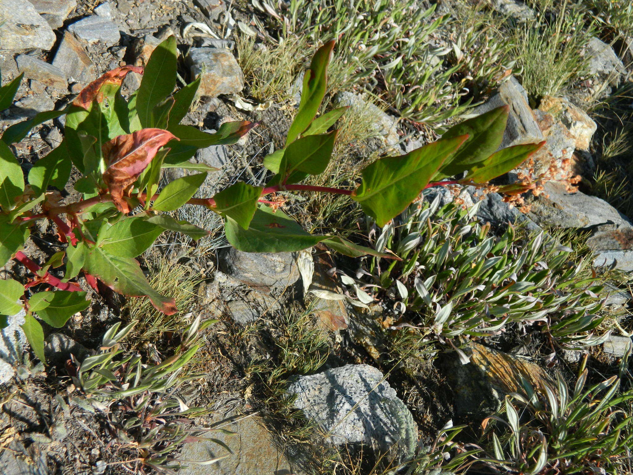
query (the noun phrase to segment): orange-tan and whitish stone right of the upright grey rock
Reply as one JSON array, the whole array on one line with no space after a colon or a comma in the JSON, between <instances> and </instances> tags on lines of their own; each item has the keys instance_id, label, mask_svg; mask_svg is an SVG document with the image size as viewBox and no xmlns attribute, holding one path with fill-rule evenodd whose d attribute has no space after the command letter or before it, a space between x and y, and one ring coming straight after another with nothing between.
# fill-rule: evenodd
<instances>
[{"instance_id":1,"label":"orange-tan and whitish stone right of the upright grey rock","mask_svg":"<svg viewBox=\"0 0 633 475\"><path fill-rule=\"evenodd\" d=\"M552 115L555 120L567 128L573 137L575 148L589 150L591 137L598 129L598 125L587 113L565 98L551 96L544 96L541 99L539 110Z\"/></svg>"}]
</instances>

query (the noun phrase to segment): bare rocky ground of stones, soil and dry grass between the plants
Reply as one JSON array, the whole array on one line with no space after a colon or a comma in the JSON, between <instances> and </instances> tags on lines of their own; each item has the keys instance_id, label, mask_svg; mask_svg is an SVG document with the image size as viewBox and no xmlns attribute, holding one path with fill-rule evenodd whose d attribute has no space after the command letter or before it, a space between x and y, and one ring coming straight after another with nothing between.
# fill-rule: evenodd
<instances>
[{"instance_id":1,"label":"bare rocky ground of stones, soil and dry grass between the plants","mask_svg":"<svg viewBox=\"0 0 633 475\"><path fill-rule=\"evenodd\" d=\"M517 21L534 15L519 1L490 4ZM458 11L449 2L442 1L439 7L442 14ZM265 23L261 18L270 16L267 9L275 11L255 1L0 0L2 82L23 74L15 104L1 113L0 130L37 120L42 111L60 110L86 84L112 68L144 66L154 47L175 35L181 54L179 87L202 77L200 98L185 123L215 130L230 120L260 122L237 146L215 146L196 155L197 162L223 168L201 194L210 196L237 180L260 184L266 173L261 160L282 146L299 94L295 87L286 100L270 99L270 103L249 96L251 85L242 72L243 58L238 57L235 41L256 32L259 49L254 52L265 49L268 33L260 27ZM508 105L503 146L546 141L533 166L505 177L539 179L543 193L530 197L521 211L498 194L487 194L475 217L482 224L491 223L493 232L516 222L557 239L582 236L583 252L591 257L594 274L608 278L608 291L601 295L606 299L605 312L617 315L613 317L617 326L608 328L600 345L549 348L539 339L538 329L513 328L494 338L464 339L458 342L460 351L446 343L429 345L411 364L409 357L408 362L392 357L388 345L393 339L383 341L385 329L406 334L406 329L394 326L401 320L391 303L385 303L389 300L383 300L379 291L368 301L361 293L351 298L341 278L360 272L360 279L366 261L342 258L318 246L311 252L249 255L225 246L220 223L211 213L184 210L183 218L213 234L197 246L175 236L161 238L143 262L159 284L183 293L187 310L172 322L160 319L158 329L159 317L149 306L125 303L107 291L93 293L91 307L66 327L47 328L51 364L44 367L32 362L19 326L23 315L9 317L0 340L0 472L171 473L172 468L140 464L139 439L126 439L127 419L116 412L120 408L92 404L73 379L77 376L73 358L81 361L94 355L104 332L120 320L150 322L132 333L123 348L126 354L140 352L154 364L172 354L177 335L192 319L218 320L204 330L204 345L191 371L187 370L197 376L178 393L182 404L208 410L183 424L201 431L213 429L202 437L215 439L187 438L172 447L169 457L183 460L188 466L178 472L187 475L380 473L374 467L380 459L376 454L388 453L391 467L398 466L430 445L451 420L470 424L474 433L477 422L473 421L494 411L504 395L521 391L523 381L538 388L553 381L556 372L573 381L585 355L589 355L585 364L596 374L615 374L618 358L630 342L626 331L630 331L633 223L621 209L595 196L592 188L603 138L618 127L620 118L587 112L582 104L598 90L605 91L601 100L606 100L618 87L631 83L633 40L629 38L628 49L614 49L595 37L583 54L591 58L586 79L565 97L545 95L536 103L517 79L520 76L508 74L467 114ZM138 84L138 75L130 73L123 83L124 94ZM360 156L409 151L445 125L436 129L437 124L404 120L396 117L393 108L385 113L384 103L374 104L360 89L332 96L334 105L356 110L369 130L362 139L346 143L341 161L355 163ZM631 107L630 99L625 106ZM25 172L60 143L63 130L63 121L47 120L13 144ZM582 177L576 181L578 190L569 187L570 172ZM176 177L168 174L165 179ZM457 196L465 207L479 201L477 192L468 187L452 194L431 190L426 201L435 196L442 204ZM344 217L317 222L310 212L320 212L320 203L307 203L311 211L305 215L298 211L303 205L290 200L287 206L308 226L337 231L347 226L348 234L361 229L361 223L364 226L358 210L337 208ZM347 223L341 224L345 219ZM28 251L43 261L58 244L52 224L38 231ZM575 242L580 243L580 238ZM170 267L176 266L183 270L173 277ZM17 265L7 265L4 273L25 277ZM365 291L373 290L369 286ZM213 464L201 463L225 455Z\"/></svg>"}]
</instances>

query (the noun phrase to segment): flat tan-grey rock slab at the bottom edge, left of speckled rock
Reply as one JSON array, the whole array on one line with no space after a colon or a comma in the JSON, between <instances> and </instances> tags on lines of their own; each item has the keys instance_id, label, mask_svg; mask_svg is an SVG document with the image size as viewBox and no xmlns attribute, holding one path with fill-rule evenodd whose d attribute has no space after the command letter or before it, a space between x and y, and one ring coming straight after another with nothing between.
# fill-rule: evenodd
<instances>
[{"instance_id":1,"label":"flat tan-grey rock slab at the bottom edge, left of speckled rock","mask_svg":"<svg viewBox=\"0 0 633 475\"><path fill-rule=\"evenodd\" d=\"M225 459L210 465L192 465L179 470L179 475L254 475L294 473L283 450L273 440L272 434L260 419L247 417L232 424L222 425L223 429L235 434L210 432L208 437L223 441L233 451L227 452L212 441L187 443L182 448L180 459L203 462L228 455Z\"/></svg>"}]
</instances>

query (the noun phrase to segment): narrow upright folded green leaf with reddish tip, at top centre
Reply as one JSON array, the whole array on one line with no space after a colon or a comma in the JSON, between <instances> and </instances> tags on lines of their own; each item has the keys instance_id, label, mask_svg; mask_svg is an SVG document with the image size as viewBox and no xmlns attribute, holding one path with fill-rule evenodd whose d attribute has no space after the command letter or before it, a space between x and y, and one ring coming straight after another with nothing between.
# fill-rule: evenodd
<instances>
[{"instance_id":1,"label":"narrow upright folded green leaf with reddish tip, at top centre","mask_svg":"<svg viewBox=\"0 0 633 475\"><path fill-rule=\"evenodd\" d=\"M334 41L325 43L316 50L312 57L310 69L303 76L303 90L297 115L290 125L285 144L292 143L308 127L316 117L327 90L327 65L334 49Z\"/></svg>"}]
</instances>

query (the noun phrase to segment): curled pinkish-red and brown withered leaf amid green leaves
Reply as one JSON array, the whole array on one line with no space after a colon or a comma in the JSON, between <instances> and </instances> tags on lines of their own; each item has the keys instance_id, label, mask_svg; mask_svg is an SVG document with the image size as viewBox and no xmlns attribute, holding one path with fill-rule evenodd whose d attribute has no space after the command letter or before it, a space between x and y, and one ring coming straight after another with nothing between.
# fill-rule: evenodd
<instances>
[{"instance_id":1,"label":"curled pinkish-red and brown withered leaf amid green leaves","mask_svg":"<svg viewBox=\"0 0 633 475\"><path fill-rule=\"evenodd\" d=\"M141 129L132 134L115 137L101 146L108 165L103 174L103 181L106 182L112 201L120 212L130 212L130 206L123 196L129 196L130 187L147 168L158 149L172 139L179 140L167 130Z\"/></svg>"}]
</instances>

